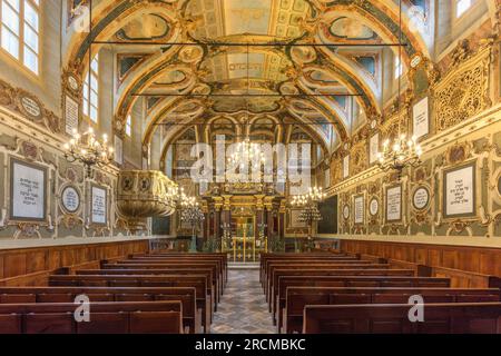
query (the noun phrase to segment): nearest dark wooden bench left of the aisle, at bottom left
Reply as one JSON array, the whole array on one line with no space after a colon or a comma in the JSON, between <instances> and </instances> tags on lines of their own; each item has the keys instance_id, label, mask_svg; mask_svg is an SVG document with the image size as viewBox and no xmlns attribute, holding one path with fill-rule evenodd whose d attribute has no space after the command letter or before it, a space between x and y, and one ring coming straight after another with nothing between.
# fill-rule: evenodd
<instances>
[{"instance_id":1,"label":"nearest dark wooden bench left of the aisle, at bottom left","mask_svg":"<svg viewBox=\"0 0 501 356\"><path fill-rule=\"evenodd\" d=\"M77 323L72 303L0 305L0 334L183 334L180 301L92 303Z\"/></svg>"}]
</instances>

